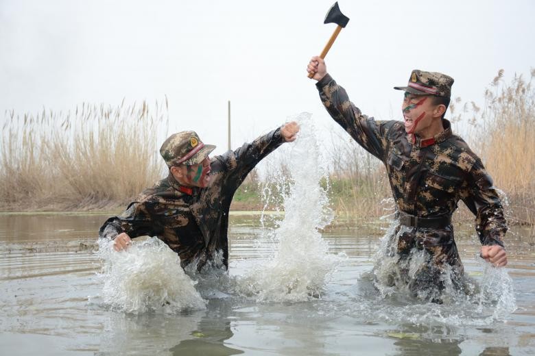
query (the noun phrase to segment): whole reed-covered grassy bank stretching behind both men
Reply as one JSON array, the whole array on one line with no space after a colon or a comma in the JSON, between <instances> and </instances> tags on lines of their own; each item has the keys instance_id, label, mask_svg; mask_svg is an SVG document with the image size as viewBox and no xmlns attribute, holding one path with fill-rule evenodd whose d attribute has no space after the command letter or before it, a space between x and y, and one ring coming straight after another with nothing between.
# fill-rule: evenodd
<instances>
[{"instance_id":1,"label":"whole reed-covered grassy bank stretching behind both men","mask_svg":"<svg viewBox=\"0 0 535 356\"><path fill-rule=\"evenodd\" d=\"M482 157L503 191L508 220L535 224L535 90L532 77L503 79L486 90L481 109L453 100L454 131ZM158 155L167 134L163 105L82 105L73 112L7 112L1 131L0 210L121 209L165 174ZM329 152L331 207L340 219L390 214L393 202L380 162L346 138ZM267 190L265 188L268 188ZM253 174L232 209L280 209L281 186ZM266 203L265 194L270 195ZM462 209L457 217L472 220Z\"/></svg>"}]
</instances>

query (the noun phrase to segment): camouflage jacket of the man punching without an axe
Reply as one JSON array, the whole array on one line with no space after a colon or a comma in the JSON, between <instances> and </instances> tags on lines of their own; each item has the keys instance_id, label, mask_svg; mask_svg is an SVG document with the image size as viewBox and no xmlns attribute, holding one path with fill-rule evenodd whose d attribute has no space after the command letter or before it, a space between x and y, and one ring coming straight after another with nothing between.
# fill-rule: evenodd
<instances>
[{"instance_id":1,"label":"camouflage jacket of the man punching without an axe","mask_svg":"<svg viewBox=\"0 0 535 356\"><path fill-rule=\"evenodd\" d=\"M209 260L228 267L228 211L234 193L250 170L283 143L280 129L261 136L236 151L211 159L207 188L185 188L169 176L142 192L123 214L106 220L100 238L126 232L130 238L158 236L178 253L182 267L192 262L202 268Z\"/></svg>"}]
</instances>

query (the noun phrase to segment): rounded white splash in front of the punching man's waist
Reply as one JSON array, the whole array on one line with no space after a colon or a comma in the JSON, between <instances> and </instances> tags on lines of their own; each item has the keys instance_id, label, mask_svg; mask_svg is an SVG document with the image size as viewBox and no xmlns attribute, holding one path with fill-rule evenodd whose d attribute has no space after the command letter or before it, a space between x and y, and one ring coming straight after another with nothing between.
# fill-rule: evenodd
<instances>
[{"instance_id":1,"label":"rounded white splash in front of the punching man's waist","mask_svg":"<svg viewBox=\"0 0 535 356\"><path fill-rule=\"evenodd\" d=\"M121 312L176 313L204 309L206 301L180 266L180 257L158 238L134 242L127 251L113 251L99 241L104 259L104 305Z\"/></svg>"}]
</instances>

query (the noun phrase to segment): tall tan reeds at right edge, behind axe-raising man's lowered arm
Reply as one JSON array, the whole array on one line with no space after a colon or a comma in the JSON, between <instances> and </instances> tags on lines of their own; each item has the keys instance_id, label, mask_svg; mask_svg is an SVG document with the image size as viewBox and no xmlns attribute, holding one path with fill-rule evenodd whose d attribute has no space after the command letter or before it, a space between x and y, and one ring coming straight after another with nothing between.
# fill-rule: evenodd
<instances>
[{"instance_id":1,"label":"tall tan reeds at right edge, behind axe-raising man's lowered arm","mask_svg":"<svg viewBox=\"0 0 535 356\"><path fill-rule=\"evenodd\" d=\"M535 69L529 79L500 70L485 91L483 109L468 110L479 153L502 192L511 223L535 224ZM466 111L463 114L466 116Z\"/></svg>"}]
</instances>

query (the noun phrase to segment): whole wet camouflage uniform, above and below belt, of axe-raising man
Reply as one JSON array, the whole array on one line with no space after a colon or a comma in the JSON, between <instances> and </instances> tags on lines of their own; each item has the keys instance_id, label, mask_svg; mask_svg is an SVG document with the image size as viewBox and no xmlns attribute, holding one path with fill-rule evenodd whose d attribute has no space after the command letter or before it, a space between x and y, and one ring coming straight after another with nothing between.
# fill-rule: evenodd
<instances>
[{"instance_id":1,"label":"whole wet camouflage uniform, above and below belt, of axe-raising man","mask_svg":"<svg viewBox=\"0 0 535 356\"><path fill-rule=\"evenodd\" d=\"M386 166L400 219L390 253L397 253L401 262L412 249L428 252L427 264L413 276L411 288L438 284L444 264L462 275L451 226L459 199L475 214L481 243L503 246L507 226L492 179L466 142L452 133L448 120L442 120L444 131L437 136L420 140L407 135L401 121L375 121L361 114L329 74L316 86L333 119Z\"/></svg>"}]
</instances>

